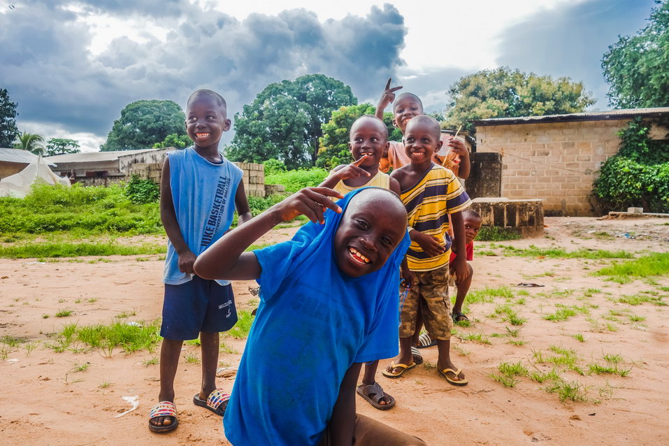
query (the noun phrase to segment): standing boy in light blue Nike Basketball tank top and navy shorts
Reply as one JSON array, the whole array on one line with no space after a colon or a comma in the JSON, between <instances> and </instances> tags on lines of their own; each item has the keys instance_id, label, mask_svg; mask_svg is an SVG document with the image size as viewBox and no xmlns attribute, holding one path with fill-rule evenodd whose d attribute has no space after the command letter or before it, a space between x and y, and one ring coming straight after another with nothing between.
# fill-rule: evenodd
<instances>
[{"instance_id":1,"label":"standing boy in light blue Nike Basketball tank top and navy shorts","mask_svg":"<svg viewBox=\"0 0 669 446\"><path fill-rule=\"evenodd\" d=\"M184 340L200 337L202 384L193 403L223 415L228 395L216 388L219 333L237 322L230 282L194 274L195 259L238 223L251 219L240 168L218 151L230 129L225 100L208 89L188 99L186 131L194 145L170 152L160 183L160 217L168 236L163 282L165 297L160 336L159 403L149 415L149 429L173 431L177 425L174 377ZM234 201L234 206L232 201Z\"/></svg>"}]
</instances>

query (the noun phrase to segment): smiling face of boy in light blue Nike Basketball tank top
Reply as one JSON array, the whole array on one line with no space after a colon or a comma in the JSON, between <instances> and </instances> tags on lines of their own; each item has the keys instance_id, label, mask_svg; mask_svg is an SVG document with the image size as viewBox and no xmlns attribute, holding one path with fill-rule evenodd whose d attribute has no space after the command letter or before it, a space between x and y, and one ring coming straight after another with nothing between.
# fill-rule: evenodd
<instances>
[{"instance_id":1,"label":"smiling face of boy in light blue Nike Basketball tank top","mask_svg":"<svg viewBox=\"0 0 669 446\"><path fill-rule=\"evenodd\" d=\"M192 97L186 108L186 132L197 147L217 149L221 135L229 129L226 108L214 96Z\"/></svg>"}]
</instances>

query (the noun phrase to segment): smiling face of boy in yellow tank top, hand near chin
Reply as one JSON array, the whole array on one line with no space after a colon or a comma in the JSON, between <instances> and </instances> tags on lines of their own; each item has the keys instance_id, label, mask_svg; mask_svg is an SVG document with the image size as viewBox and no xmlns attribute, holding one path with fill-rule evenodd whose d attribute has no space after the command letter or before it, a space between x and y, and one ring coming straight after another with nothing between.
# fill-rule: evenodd
<instances>
[{"instance_id":1,"label":"smiling face of boy in yellow tank top, hand near chin","mask_svg":"<svg viewBox=\"0 0 669 446\"><path fill-rule=\"evenodd\" d=\"M388 129L382 120L363 116L353 123L348 148L353 159L366 156L362 168L378 166L384 150L388 148Z\"/></svg>"}]
</instances>

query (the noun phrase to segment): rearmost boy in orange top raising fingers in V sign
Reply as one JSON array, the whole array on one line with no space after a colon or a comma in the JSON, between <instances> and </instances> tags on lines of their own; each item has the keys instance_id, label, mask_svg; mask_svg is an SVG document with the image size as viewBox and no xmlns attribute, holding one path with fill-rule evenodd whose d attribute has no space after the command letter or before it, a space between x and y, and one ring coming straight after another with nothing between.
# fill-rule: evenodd
<instances>
[{"instance_id":1,"label":"rearmost boy in orange top raising fingers in V sign","mask_svg":"<svg viewBox=\"0 0 669 446\"><path fill-rule=\"evenodd\" d=\"M412 117L423 115L423 103L418 96L412 93L402 93L395 100L395 92L402 87L391 87L391 79L388 79L384 92L381 94L381 99L376 107L376 117L383 119L383 112L393 104L393 126L400 129L402 135L405 135L407 123ZM469 178L470 160L469 151L465 144L458 138L453 138L450 135L442 134L440 132L440 140L449 146L451 150L444 156L437 153L433 154L433 161L445 168L449 168L459 178L466 180ZM410 163L404 150L404 143L402 141L389 141L387 152L384 153L380 169L382 172L389 171L390 168L401 168Z\"/></svg>"}]
</instances>

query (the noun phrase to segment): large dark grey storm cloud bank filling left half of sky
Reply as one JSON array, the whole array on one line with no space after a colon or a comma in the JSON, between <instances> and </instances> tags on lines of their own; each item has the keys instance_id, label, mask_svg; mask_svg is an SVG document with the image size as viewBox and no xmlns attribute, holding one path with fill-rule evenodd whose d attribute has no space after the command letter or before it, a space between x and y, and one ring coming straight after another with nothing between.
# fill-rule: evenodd
<instances>
[{"instance_id":1,"label":"large dark grey storm cloud bank filling left half of sky","mask_svg":"<svg viewBox=\"0 0 669 446\"><path fill-rule=\"evenodd\" d=\"M170 29L166 42L119 36L107 50L91 55L89 25L52 2L33 2L29 8L23 3L0 14L0 87L19 103L19 119L61 124L70 131L106 135L127 103L172 99L184 104L201 87L221 92L229 112L235 112L268 83L305 73L324 73L350 85L360 98L375 97L403 64L399 52L406 28L389 5L371 8L366 17L319 22L304 9L239 21L187 0L58 3L115 16L145 14Z\"/></svg>"}]
</instances>

